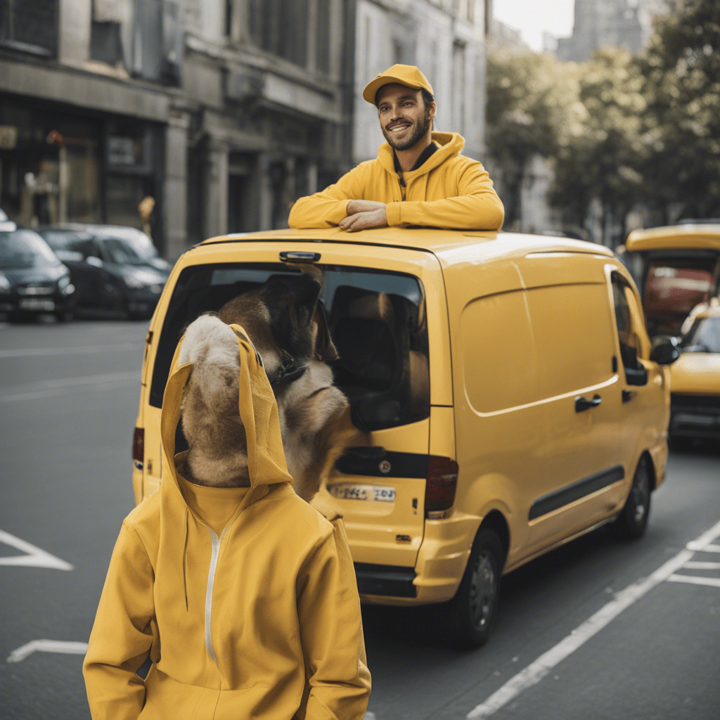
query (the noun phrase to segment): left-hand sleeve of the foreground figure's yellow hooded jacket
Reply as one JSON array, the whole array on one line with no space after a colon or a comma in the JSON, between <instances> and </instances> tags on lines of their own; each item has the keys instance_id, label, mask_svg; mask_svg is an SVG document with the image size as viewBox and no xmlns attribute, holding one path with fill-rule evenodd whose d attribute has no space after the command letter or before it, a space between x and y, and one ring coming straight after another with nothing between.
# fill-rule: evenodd
<instances>
[{"instance_id":1,"label":"left-hand sleeve of the foreground figure's yellow hooded jacket","mask_svg":"<svg viewBox=\"0 0 720 720\"><path fill-rule=\"evenodd\" d=\"M93 720L135 720L143 709L145 683L135 671L153 642L153 580L143 541L122 523L83 663Z\"/></svg>"}]
</instances>

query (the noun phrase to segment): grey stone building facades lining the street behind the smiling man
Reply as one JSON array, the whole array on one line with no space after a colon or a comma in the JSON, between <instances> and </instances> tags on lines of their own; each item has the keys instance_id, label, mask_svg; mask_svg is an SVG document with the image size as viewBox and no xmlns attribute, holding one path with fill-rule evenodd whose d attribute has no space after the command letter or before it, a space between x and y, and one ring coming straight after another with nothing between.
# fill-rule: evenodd
<instances>
[{"instance_id":1,"label":"grey stone building facades lining the street behind the smiling man","mask_svg":"<svg viewBox=\"0 0 720 720\"><path fill-rule=\"evenodd\" d=\"M281 228L375 156L366 81L418 64L482 156L484 0L0 0L0 207L141 225L169 259ZM482 158L481 158L482 159Z\"/></svg>"}]
</instances>

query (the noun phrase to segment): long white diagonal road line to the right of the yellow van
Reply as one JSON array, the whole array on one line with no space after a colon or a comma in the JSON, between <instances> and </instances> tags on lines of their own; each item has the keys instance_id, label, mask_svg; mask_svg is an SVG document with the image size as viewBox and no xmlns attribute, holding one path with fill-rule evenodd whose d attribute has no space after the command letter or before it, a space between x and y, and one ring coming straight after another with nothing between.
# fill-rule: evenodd
<instances>
[{"instance_id":1,"label":"long white diagonal road line to the right of the yellow van","mask_svg":"<svg viewBox=\"0 0 720 720\"><path fill-rule=\"evenodd\" d=\"M675 574L675 570L680 570L680 567L683 567L683 565L693 557L694 552L698 550L706 551L708 547L713 547L711 542L719 535L720 522L716 523L696 540L688 543L684 550L681 550L675 557L668 560L645 580L629 585L628 588L622 590L606 606L600 608L598 612L575 628L570 635L562 639L557 645L544 654L541 654L535 662L531 662L530 665L521 670L521 672L518 672L513 678L510 678L500 690L493 693L484 703L480 703L480 705L472 708L466 716L467 720L490 717L500 710L500 708L507 705L513 698L520 695L523 690L539 683L556 665L565 660L566 657L575 652L575 650L585 644L585 642L588 642L591 637L606 627L614 618L622 613L622 611L629 608L636 600L642 598L643 595L649 593L652 588L670 579L670 577ZM720 546L716 547L720 549ZM706 578L702 579L706 580Z\"/></svg>"}]
</instances>

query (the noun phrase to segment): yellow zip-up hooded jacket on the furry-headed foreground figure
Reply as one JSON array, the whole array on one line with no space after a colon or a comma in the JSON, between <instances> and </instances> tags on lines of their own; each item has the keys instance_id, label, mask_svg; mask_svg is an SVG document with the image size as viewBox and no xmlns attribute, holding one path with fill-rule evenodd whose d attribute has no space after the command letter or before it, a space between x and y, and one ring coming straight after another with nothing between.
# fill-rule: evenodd
<instances>
[{"instance_id":1,"label":"yellow zip-up hooded jacket on the furry-headed foreground figure","mask_svg":"<svg viewBox=\"0 0 720 720\"><path fill-rule=\"evenodd\" d=\"M243 328L230 328L250 487L194 485L179 472L175 431L193 366L179 366L179 345L161 416L170 473L122 523L84 661L94 720L365 714L370 674L342 524L292 490L261 360ZM135 671L148 652L143 680Z\"/></svg>"}]
</instances>

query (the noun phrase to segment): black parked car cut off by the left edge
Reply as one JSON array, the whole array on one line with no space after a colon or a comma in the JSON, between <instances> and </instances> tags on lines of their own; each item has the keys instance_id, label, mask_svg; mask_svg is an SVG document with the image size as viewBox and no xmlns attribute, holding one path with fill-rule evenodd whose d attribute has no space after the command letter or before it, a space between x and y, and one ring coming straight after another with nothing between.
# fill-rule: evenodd
<instances>
[{"instance_id":1,"label":"black parked car cut off by the left edge","mask_svg":"<svg viewBox=\"0 0 720 720\"><path fill-rule=\"evenodd\" d=\"M34 230L0 230L0 312L11 320L41 313L68 320L74 308L70 272L48 243Z\"/></svg>"}]
</instances>

